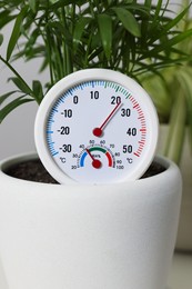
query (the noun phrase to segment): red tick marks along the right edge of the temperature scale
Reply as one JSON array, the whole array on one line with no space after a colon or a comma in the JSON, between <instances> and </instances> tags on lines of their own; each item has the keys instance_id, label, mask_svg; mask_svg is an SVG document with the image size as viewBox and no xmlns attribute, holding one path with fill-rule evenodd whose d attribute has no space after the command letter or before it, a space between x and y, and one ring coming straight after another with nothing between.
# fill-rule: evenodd
<instances>
[{"instance_id":1,"label":"red tick marks along the right edge of the temperature scale","mask_svg":"<svg viewBox=\"0 0 192 289\"><path fill-rule=\"evenodd\" d=\"M133 97L130 97L130 100L133 103L133 109L137 109L137 111L139 113L138 119L140 119L140 121L141 121L141 129L140 129L141 140L138 141L138 143L139 143L138 150L135 152L133 152L133 155L139 158L142 153L144 144L145 144L146 124L145 124L144 113L143 113L142 109L140 108L140 104L135 101L135 99Z\"/></svg>"}]
</instances>

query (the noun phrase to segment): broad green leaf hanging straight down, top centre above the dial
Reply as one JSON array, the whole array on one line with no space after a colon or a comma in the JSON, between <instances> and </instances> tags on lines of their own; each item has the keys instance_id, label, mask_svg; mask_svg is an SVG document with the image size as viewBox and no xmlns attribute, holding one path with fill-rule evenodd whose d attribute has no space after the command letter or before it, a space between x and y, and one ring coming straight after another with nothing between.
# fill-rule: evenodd
<instances>
[{"instance_id":1,"label":"broad green leaf hanging straight down, top centre above the dial","mask_svg":"<svg viewBox=\"0 0 192 289\"><path fill-rule=\"evenodd\" d=\"M112 51L112 18L108 14L99 14L98 23L105 57L110 59Z\"/></svg>"}]
</instances>

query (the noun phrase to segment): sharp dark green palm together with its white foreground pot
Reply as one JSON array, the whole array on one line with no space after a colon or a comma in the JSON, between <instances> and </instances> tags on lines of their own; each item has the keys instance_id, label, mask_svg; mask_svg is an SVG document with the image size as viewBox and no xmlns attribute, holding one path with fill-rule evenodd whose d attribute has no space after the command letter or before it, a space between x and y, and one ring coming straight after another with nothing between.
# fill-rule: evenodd
<instances>
[{"instance_id":1,"label":"sharp dark green palm together with its white foreground pot","mask_svg":"<svg viewBox=\"0 0 192 289\"><path fill-rule=\"evenodd\" d=\"M170 51L184 60L174 46L192 31L174 28L188 8L174 19L166 11L162 1L1 1L0 27L14 24L0 60L17 88L0 98L1 121L20 104L40 103L72 71L109 68L139 78L175 63ZM40 69L50 71L44 88L13 68L20 57L41 57ZM27 159L37 155L1 162L0 250L10 289L164 288L181 200L175 165L156 158L163 172L128 183L59 186L9 176Z\"/></svg>"}]
</instances>

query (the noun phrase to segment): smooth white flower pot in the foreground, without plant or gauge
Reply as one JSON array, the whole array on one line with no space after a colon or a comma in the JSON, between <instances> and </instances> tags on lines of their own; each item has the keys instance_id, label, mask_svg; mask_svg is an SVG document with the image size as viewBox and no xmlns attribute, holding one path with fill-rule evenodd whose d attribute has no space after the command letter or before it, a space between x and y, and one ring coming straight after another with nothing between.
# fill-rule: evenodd
<instances>
[{"instance_id":1,"label":"smooth white flower pot in the foreground, without plant or gauge","mask_svg":"<svg viewBox=\"0 0 192 289\"><path fill-rule=\"evenodd\" d=\"M23 181L1 162L0 256L9 289L164 289L181 200L178 167L108 186Z\"/></svg>"}]
</instances>

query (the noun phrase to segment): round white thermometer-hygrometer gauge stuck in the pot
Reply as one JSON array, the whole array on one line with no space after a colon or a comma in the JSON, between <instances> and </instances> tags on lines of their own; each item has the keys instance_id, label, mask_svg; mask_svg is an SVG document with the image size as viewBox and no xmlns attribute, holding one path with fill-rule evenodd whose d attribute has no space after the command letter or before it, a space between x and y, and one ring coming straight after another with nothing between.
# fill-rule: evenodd
<instances>
[{"instance_id":1,"label":"round white thermometer-hygrometer gauge stuck in the pot","mask_svg":"<svg viewBox=\"0 0 192 289\"><path fill-rule=\"evenodd\" d=\"M36 143L61 183L133 180L150 166L158 118L146 92L111 70L89 69L59 81L42 101Z\"/></svg>"}]
</instances>

